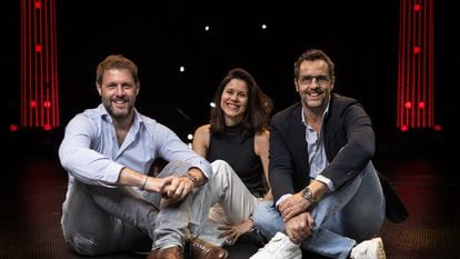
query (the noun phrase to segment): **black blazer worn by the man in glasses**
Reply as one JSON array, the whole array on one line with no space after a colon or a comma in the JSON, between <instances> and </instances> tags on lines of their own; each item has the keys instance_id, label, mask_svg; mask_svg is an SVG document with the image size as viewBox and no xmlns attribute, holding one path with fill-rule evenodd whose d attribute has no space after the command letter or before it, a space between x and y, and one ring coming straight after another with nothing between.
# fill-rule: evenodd
<instances>
[{"instance_id":1,"label":"black blazer worn by the man in glasses","mask_svg":"<svg viewBox=\"0 0 460 259\"><path fill-rule=\"evenodd\" d=\"M300 102L276 113L270 122L269 178L274 200L302 190L310 182L306 127ZM332 93L322 123L329 166L321 172L340 189L371 161L376 150L372 123L354 99ZM379 173L380 175L380 173ZM387 203L387 217L400 222L408 217L404 205L389 182L379 176Z\"/></svg>"}]
</instances>

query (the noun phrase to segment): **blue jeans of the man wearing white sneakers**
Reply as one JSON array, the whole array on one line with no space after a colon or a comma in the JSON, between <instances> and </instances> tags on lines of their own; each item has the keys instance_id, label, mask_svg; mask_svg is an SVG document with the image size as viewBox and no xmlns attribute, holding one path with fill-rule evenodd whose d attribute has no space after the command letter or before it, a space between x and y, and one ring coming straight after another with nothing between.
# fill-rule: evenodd
<instances>
[{"instance_id":1,"label":"blue jeans of the man wearing white sneakers","mask_svg":"<svg viewBox=\"0 0 460 259\"><path fill-rule=\"evenodd\" d=\"M372 163L339 190L329 192L312 208L312 236L302 249L329 257L348 258L351 248L378 235L384 220L384 197ZM256 227L271 239L284 232L281 215L273 203L260 202L254 209Z\"/></svg>"}]
</instances>

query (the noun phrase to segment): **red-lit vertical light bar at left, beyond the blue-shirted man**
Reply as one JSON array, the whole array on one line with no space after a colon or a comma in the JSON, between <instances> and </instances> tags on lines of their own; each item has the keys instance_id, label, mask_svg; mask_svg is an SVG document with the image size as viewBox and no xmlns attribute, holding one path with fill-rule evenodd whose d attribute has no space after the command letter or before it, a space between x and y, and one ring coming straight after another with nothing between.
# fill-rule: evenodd
<instances>
[{"instance_id":1,"label":"red-lit vertical light bar at left, beyond the blue-shirted man","mask_svg":"<svg viewBox=\"0 0 460 259\"><path fill-rule=\"evenodd\" d=\"M21 0L21 127L59 121L56 0Z\"/></svg>"}]
</instances>

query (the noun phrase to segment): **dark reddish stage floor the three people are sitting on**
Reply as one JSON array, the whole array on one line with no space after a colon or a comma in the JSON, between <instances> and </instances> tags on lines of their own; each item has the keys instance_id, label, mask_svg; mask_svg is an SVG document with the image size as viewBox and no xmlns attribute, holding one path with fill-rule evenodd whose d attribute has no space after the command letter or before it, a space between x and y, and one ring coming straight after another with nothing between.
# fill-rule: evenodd
<instances>
[{"instance_id":1,"label":"dark reddish stage floor the three people are sitting on","mask_svg":"<svg viewBox=\"0 0 460 259\"><path fill-rule=\"evenodd\" d=\"M3 153L7 152L0 183L2 259L84 258L67 248L60 230L67 178L57 160L58 141L49 136L29 136L27 141L8 139L2 145ZM444 157L444 148L409 142L386 146L378 152L376 167L390 179L410 212L400 225L384 223L381 236L387 258L459 258L460 177L448 166L450 159ZM253 249L240 245L230 250L230 258L248 258Z\"/></svg>"}]
</instances>

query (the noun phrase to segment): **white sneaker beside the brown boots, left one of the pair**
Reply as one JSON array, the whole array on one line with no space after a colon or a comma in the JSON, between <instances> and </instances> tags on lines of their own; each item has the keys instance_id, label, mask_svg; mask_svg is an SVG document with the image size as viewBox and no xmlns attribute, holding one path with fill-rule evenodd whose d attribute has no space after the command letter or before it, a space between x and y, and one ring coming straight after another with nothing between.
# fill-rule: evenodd
<instances>
[{"instance_id":1,"label":"white sneaker beside the brown boots, left one of the pair","mask_svg":"<svg viewBox=\"0 0 460 259\"><path fill-rule=\"evenodd\" d=\"M291 242L289 237L277 232L264 247L260 248L250 259L302 259L300 246Z\"/></svg>"}]
</instances>

